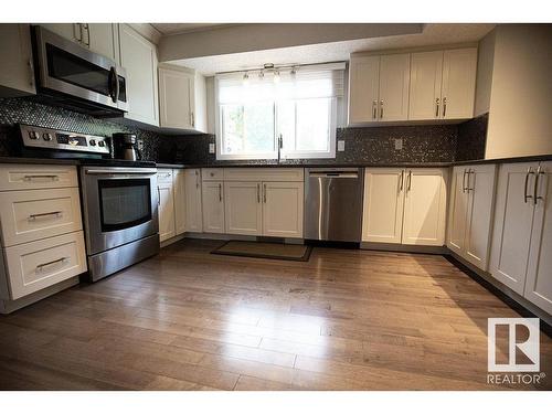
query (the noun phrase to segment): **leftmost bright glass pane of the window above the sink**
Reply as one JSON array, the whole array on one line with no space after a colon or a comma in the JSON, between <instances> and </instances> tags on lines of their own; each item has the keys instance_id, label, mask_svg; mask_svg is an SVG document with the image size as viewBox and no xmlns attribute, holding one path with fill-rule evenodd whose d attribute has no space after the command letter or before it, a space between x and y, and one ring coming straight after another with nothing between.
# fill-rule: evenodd
<instances>
[{"instance_id":1,"label":"leftmost bright glass pane of the window above the sink","mask_svg":"<svg viewBox=\"0 0 552 414\"><path fill-rule=\"evenodd\" d=\"M274 104L222 105L223 153L274 151Z\"/></svg>"}]
</instances>

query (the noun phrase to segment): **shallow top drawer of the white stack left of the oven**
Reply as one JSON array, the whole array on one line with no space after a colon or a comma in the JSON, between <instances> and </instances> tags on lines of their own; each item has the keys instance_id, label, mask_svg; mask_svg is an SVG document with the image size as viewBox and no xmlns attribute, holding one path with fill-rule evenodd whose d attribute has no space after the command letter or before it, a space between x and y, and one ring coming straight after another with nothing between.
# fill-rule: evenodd
<instances>
[{"instance_id":1,"label":"shallow top drawer of the white stack left of the oven","mask_svg":"<svg viewBox=\"0 0 552 414\"><path fill-rule=\"evenodd\" d=\"M0 166L0 191L78 187L73 166Z\"/></svg>"}]
</instances>

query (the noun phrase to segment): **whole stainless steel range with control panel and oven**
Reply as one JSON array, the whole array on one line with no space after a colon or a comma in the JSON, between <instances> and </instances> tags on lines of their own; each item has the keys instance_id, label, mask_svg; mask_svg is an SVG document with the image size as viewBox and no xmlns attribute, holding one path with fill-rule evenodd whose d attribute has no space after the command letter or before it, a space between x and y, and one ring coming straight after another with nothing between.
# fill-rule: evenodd
<instances>
[{"instance_id":1,"label":"whole stainless steel range with control panel and oven","mask_svg":"<svg viewBox=\"0 0 552 414\"><path fill-rule=\"evenodd\" d=\"M92 282L159 252L157 169L114 160L108 140L21 125L23 155L78 158L86 255Z\"/></svg>"}]
</instances>

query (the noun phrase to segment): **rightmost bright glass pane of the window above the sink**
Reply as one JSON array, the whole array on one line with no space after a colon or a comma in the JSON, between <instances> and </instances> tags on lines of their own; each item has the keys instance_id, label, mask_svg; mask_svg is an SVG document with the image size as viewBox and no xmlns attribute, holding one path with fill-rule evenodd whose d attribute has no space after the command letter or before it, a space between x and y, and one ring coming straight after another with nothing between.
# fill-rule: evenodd
<instances>
[{"instance_id":1,"label":"rightmost bright glass pane of the window above the sink","mask_svg":"<svg viewBox=\"0 0 552 414\"><path fill-rule=\"evenodd\" d=\"M296 146L298 151L328 151L331 99L297 100Z\"/></svg>"}]
</instances>

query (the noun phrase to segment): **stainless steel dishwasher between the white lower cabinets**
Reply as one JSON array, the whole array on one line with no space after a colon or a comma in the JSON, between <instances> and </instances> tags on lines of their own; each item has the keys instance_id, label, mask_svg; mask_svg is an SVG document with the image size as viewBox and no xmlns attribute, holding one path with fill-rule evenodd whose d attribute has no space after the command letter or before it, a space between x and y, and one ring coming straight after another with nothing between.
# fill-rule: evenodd
<instances>
[{"instance_id":1,"label":"stainless steel dishwasher between the white lower cabinets","mask_svg":"<svg viewBox=\"0 0 552 414\"><path fill-rule=\"evenodd\" d=\"M305 170L305 238L360 242L363 168Z\"/></svg>"}]
</instances>

